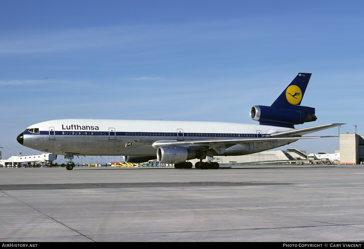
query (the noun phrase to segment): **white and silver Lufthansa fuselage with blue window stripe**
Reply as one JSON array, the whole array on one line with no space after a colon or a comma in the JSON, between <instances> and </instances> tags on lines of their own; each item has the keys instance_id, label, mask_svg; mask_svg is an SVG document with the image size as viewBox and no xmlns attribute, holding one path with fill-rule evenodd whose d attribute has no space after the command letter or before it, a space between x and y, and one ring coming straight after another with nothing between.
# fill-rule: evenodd
<instances>
[{"instance_id":1,"label":"white and silver Lufthansa fuselage with blue window stripe","mask_svg":"<svg viewBox=\"0 0 364 249\"><path fill-rule=\"evenodd\" d=\"M153 143L157 141L262 138L294 129L222 122L59 119L33 124L27 130L23 132L23 145L38 151L58 155L155 156L157 148ZM254 149L236 144L222 155L252 154L291 142L257 142ZM198 145L193 148L206 150Z\"/></svg>"}]
</instances>

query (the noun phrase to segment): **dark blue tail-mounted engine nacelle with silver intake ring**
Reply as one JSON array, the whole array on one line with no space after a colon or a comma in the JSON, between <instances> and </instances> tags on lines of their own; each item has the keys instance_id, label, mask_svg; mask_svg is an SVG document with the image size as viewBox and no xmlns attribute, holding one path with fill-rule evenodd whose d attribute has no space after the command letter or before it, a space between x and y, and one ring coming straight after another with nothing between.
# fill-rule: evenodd
<instances>
[{"instance_id":1,"label":"dark blue tail-mounted engine nacelle with silver intake ring","mask_svg":"<svg viewBox=\"0 0 364 249\"><path fill-rule=\"evenodd\" d=\"M253 106L250 118L260 124L273 123L282 125L303 124L316 121L315 109L307 106L292 106L291 109L272 106Z\"/></svg>"}]
</instances>

